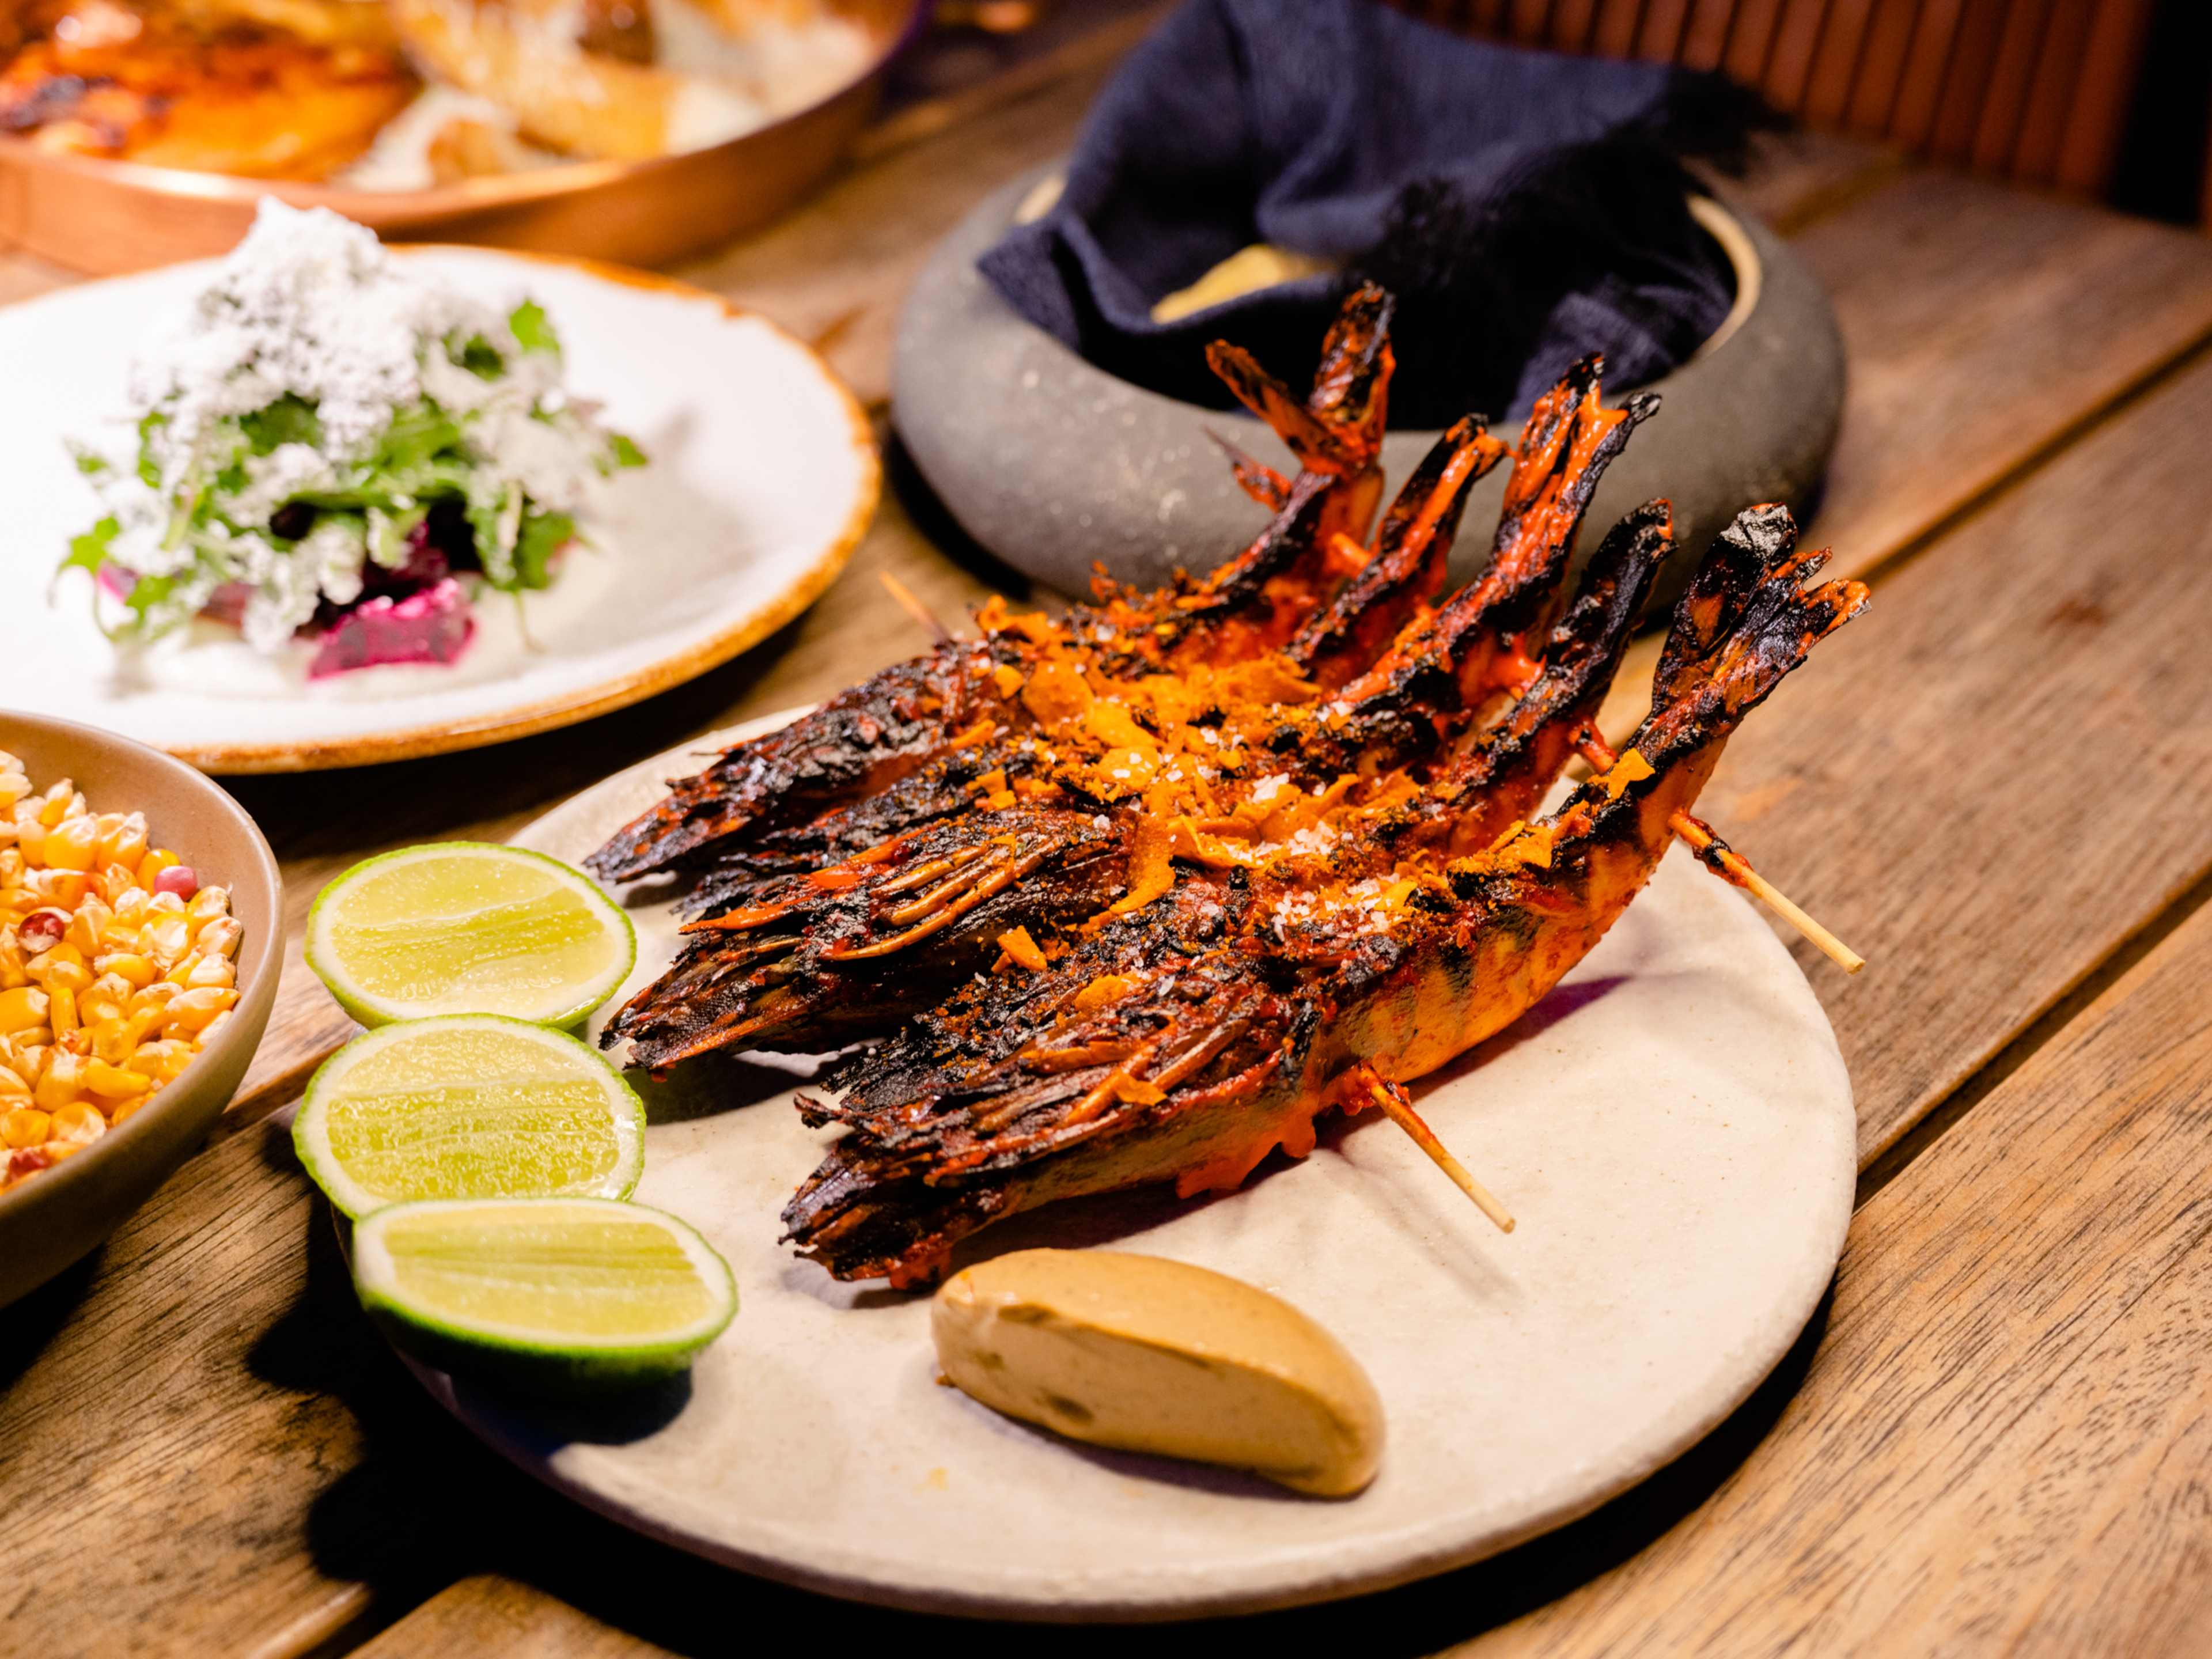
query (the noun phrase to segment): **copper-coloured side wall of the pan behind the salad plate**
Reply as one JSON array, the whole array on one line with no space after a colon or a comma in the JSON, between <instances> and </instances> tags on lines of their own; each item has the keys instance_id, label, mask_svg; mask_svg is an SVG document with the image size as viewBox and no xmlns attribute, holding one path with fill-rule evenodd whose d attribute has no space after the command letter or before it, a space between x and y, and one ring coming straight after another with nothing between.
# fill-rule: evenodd
<instances>
[{"instance_id":1,"label":"copper-coloured side wall of the pan behind the salad plate","mask_svg":"<svg viewBox=\"0 0 2212 1659\"><path fill-rule=\"evenodd\" d=\"M869 66L794 115L653 161L571 161L434 190L347 190L51 155L0 135L0 243L95 276L230 252L274 195L334 208L385 241L473 241L664 265L768 223L799 201L867 124L883 71L929 18L927 0L834 0L867 29Z\"/></svg>"}]
</instances>

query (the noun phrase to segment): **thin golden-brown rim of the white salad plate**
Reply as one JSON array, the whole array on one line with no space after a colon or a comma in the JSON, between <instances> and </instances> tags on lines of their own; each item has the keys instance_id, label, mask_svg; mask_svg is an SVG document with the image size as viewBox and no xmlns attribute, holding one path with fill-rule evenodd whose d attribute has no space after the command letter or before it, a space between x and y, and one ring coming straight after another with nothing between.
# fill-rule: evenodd
<instances>
[{"instance_id":1,"label":"thin golden-brown rim of the white salad plate","mask_svg":"<svg viewBox=\"0 0 2212 1659\"><path fill-rule=\"evenodd\" d=\"M776 628L805 613L843 573L854 551L858 551L860 540L874 524L876 509L883 502L883 451L876 445L876 429L860 398L849 385L845 385L838 372L830 367L827 358L823 358L821 352L792 330L712 290L677 281L675 276L661 276L659 272L617 265L613 261L591 259L584 254L549 254L524 248L484 248L478 243L447 241L407 243L405 248L394 248L392 252L403 257L467 254L471 259L515 259L529 265L573 270L615 288L637 288L648 294L666 294L670 299L706 301L714 305L728 323L759 323L779 341L790 345L843 407L852 456L860 467L860 476L854 484L852 509L845 513L845 522L836 529L836 533L814 555L814 562L799 571L772 599L754 606L728 628L688 646L686 650L644 664L641 668L633 668L624 675L613 675L593 686L580 686L571 692L542 697L535 703L524 703L493 714L478 714L473 719L422 721L383 732L363 732L358 737L321 741L303 739L288 743L153 743L150 748L173 754L186 765L197 765L201 772L215 776L261 776L281 772L327 772L347 765L383 765L389 761L420 761L434 754L458 754L462 750L511 743L522 737L535 737L538 732L575 726L688 684L710 668L719 668L732 657L761 644L768 635L776 633ZM53 290L51 294L22 301L22 305L38 305L42 299L84 294L86 290L95 290L106 283L144 283L148 276L164 276L177 270L181 270L181 265L166 265L157 272L97 276L93 281L71 283ZM4 310L18 307L11 305Z\"/></svg>"}]
</instances>

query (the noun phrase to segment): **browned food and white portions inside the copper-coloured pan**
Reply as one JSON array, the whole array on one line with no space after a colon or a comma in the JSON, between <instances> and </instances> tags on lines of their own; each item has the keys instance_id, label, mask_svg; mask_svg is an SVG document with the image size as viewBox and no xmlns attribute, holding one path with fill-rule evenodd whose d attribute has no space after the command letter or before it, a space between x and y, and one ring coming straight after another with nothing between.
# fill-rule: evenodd
<instances>
[{"instance_id":1,"label":"browned food and white portions inside the copper-coloured pan","mask_svg":"<svg viewBox=\"0 0 2212 1659\"><path fill-rule=\"evenodd\" d=\"M805 0L42 0L11 24L0 131L42 150L372 190L721 144L874 46Z\"/></svg>"}]
</instances>

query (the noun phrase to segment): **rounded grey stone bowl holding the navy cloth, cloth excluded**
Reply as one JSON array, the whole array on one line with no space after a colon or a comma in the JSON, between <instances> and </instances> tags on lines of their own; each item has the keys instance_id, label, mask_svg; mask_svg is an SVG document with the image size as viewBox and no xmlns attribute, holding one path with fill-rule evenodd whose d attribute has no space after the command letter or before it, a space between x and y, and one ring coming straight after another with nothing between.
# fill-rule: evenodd
<instances>
[{"instance_id":1,"label":"rounded grey stone bowl holding the navy cloth, cloth excluded","mask_svg":"<svg viewBox=\"0 0 2212 1659\"><path fill-rule=\"evenodd\" d=\"M1261 422L1146 392L1093 367L1020 316L975 270L1022 201L1060 164L1015 179L956 228L922 268L898 325L894 420L922 478L982 546L1062 593L1086 593L1093 564L1139 586L1177 566L1206 573L1248 544L1267 515L1230 480L1214 429L1274 467L1290 451ZM1820 283L1790 246L1708 197L1692 212L1736 268L1736 305L1674 374L1648 389L1663 407L1613 462L1590 504L1599 531L1666 495L1681 542L1703 551L1754 502L1812 504L1843 418L1843 336ZM1617 403L1628 387L1606 387ZM1526 409L1495 420L1517 434ZM1394 431L1391 487L1436 442ZM1473 575L1504 495L1506 469L1482 480L1453 553ZM1582 538L1582 551L1597 535ZM1668 602L1692 560L1661 571Z\"/></svg>"}]
</instances>

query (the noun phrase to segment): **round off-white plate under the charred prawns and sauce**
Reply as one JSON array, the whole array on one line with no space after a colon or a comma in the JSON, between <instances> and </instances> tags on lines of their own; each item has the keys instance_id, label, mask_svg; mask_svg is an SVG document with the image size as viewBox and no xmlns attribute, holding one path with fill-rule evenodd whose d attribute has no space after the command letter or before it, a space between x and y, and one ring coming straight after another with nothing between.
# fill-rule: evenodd
<instances>
[{"instance_id":1,"label":"round off-white plate under the charred prawns and sauce","mask_svg":"<svg viewBox=\"0 0 2212 1659\"><path fill-rule=\"evenodd\" d=\"M580 858L681 770L688 752L622 772L515 841ZM664 907L635 920L641 984L675 933ZM1376 1484L1329 1502L1077 1447L938 1387L925 1296L841 1285L776 1243L832 1133L799 1124L785 1071L750 1077L745 1104L699 1099L681 1071L644 1084L637 1199L706 1232L741 1298L672 1416L533 1413L422 1376L502 1453L639 1531L834 1595L993 1617L1321 1601L1582 1515L1781 1360L1856 1181L1820 1004L1752 907L1677 854L1535 1013L1418 1091L1513 1234L1374 1113L1228 1197L1093 1199L982 1234L1194 1261L1323 1321L1389 1416Z\"/></svg>"}]
</instances>

